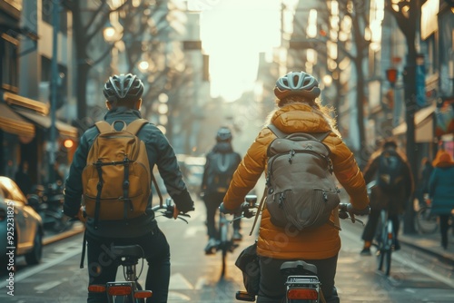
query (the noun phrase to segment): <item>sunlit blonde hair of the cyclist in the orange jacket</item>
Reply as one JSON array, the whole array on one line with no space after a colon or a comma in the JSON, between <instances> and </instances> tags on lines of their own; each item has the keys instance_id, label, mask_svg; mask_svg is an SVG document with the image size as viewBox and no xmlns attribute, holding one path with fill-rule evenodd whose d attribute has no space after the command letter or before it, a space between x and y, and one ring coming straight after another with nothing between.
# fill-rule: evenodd
<instances>
[{"instance_id":1,"label":"sunlit blonde hair of the cyclist in the orange jacket","mask_svg":"<svg viewBox=\"0 0 454 303\"><path fill-rule=\"evenodd\" d=\"M268 115L268 117L266 119L266 125L268 125L271 122L271 118L272 118L274 112L279 111L279 109L281 107L291 105L291 104L301 104L301 103L311 106L312 112L319 114L326 122L328 122L328 124L331 127L331 131L336 133L336 135L338 135L339 138L342 138L341 132L339 132L339 130L337 128L337 122L333 118L335 116L334 108L332 106L322 105L320 98L316 98L315 100L311 100L311 101L308 101L300 96L289 96L282 100L276 99L276 105L278 106L278 108L276 108L274 111L270 112L270 114Z\"/></svg>"}]
</instances>

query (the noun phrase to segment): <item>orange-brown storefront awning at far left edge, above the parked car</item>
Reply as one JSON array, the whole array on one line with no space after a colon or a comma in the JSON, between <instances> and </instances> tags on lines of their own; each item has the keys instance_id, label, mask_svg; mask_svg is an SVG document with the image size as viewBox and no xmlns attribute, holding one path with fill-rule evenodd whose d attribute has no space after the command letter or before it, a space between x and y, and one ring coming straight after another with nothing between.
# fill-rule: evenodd
<instances>
[{"instance_id":1,"label":"orange-brown storefront awning at far left edge, above the parked car","mask_svg":"<svg viewBox=\"0 0 454 303\"><path fill-rule=\"evenodd\" d=\"M20 115L9 108L8 105L0 103L0 128L4 132L18 136L35 137L35 125L25 121Z\"/></svg>"}]
</instances>

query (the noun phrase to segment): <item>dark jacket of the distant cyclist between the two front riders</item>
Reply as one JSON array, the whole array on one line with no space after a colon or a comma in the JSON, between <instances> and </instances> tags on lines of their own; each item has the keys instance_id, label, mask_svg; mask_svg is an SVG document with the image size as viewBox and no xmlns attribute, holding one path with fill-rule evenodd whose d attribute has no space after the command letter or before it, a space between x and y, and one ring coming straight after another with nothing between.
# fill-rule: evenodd
<instances>
[{"instance_id":1,"label":"dark jacket of the distant cyclist between the two front riders","mask_svg":"<svg viewBox=\"0 0 454 303\"><path fill-rule=\"evenodd\" d=\"M215 163L217 157L216 154L222 155L222 162L226 165L228 164L228 169L225 171L225 186L219 188L218 185L222 184L215 184L213 179L216 176L213 174L213 165L217 165ZM230 181L232 181L233 172L237 169L238 165L242 161L242 156L238 152L233 152L232 144L230 142L217 142L214 147L212 148L211 152L208 152L206 155L206 162L205 167L203 170L203 177L202 177L202 192L205 194L210 194L213 192L226 192Z\"/></svg>"}]
</instances>

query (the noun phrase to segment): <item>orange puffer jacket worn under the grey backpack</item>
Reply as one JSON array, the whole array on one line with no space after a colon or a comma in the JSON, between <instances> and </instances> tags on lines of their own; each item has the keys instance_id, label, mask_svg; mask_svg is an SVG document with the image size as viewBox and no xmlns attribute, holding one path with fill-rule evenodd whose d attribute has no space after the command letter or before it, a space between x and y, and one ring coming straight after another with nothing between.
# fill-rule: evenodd
<instances>
[{"instance_id":1,"label":"orange puffer jacket worn under the grey backpack","mask_svg":"<svg viewBox=\"0 0 454 303\"><path fill-rule=\"evenodd\" d=\"M303 103L290 104L274 112L271 122L282 132L328 132L330 124L311 106ZM267 171L267 148L276 136L264 128L252 143L232 177L223 200L227 210L239 207L246 194ZM369 204L364 178L355 158L341 138L334 133L323 140L331 150L334 174L350 196L355 209L363 210ZM333 222L339 221L337 210L331 214ZM325 224L316 230L291 234L271 224L270 213L263 210L260 223L257 252L260 256L274 259L327 259L341 249L339 230Z\"/></svg>"}]
</instances>

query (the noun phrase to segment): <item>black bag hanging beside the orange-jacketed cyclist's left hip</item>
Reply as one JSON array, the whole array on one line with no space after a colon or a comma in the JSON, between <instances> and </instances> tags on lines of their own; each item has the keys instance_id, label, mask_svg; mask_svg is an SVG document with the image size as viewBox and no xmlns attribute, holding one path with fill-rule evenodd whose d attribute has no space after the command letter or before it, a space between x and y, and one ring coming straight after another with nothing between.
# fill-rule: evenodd
<instances>
[{"instance_id":1,"label":"black bag hanging beside the orange-jacketed cyclist's left hip","mask_svg":"<svg viewBox=\"0 0 454 303\"><path fill-rule=\"evenodd\" d=\"M260 265L257 256L257 241L242 250L235 265L242 270L242 282L248 294L257 296L260 286Z\"/></svg>"}]
</instances>

